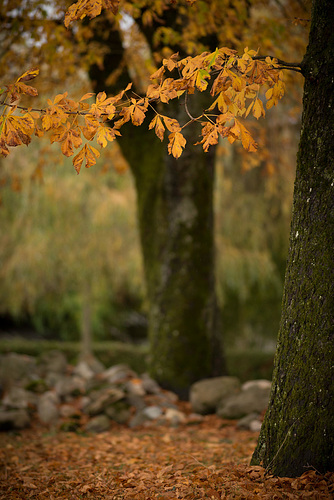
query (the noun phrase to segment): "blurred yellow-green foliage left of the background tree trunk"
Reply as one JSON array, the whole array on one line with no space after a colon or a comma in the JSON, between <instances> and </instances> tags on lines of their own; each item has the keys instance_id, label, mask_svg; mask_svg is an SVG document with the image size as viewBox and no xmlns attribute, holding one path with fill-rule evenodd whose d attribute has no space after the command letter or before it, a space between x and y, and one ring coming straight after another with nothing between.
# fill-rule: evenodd
<instances>
[{"instance_id":1,"label":"blurred yellow-green foliage left of the background tree trunk","mask_svg":"<svg viewBox=\"0 0 334 500\"><path fill-rule=\"evenodd\" d=\"M118 311L143 307L131 177L112 168L116 155L104 158L110 170L99 165L78 183L66 164L56 166L51 149L37 183L31 175L41 154L32 149L3 165L2 179L15 174L20 192L8 183L1 192L0 315L78 340L88 288L94 337L110 338Z\"/></svg>"}]
</instances>

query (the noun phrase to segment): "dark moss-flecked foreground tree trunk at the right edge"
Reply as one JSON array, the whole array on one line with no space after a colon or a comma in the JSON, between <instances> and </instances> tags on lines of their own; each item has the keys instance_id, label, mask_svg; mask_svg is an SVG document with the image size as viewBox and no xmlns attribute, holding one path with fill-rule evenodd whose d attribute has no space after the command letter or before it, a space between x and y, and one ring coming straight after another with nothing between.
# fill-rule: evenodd
<instances>
[{"instance_id":1,"label":"dark moss-flecked foreground tree trunk at the right edge","mask_svg":"<svg viewBox=\"0 0 334 500\"><path fill-rule=\"evenodd\" d=\"M334 470L334 2L315 0L273 388L252 464Z\"/></svg>"}]
</instances>

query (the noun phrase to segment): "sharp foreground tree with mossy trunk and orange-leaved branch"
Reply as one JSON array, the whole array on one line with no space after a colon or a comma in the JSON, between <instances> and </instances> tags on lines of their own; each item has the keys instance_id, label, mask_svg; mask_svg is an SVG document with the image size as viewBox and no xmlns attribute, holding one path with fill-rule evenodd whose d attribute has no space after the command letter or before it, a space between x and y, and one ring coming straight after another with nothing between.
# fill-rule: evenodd
<instances>
[{"instance_id":1,"label":"sharp foreground tree with mossy trunk and orange-leaved branch","mask_svg":"<svg viewBox=\"0 0 334 500\"><path fill-rule=\"evenodd\" d=\"M79 17L82 16L82 12L79 14ZM200 119L206 118L201 131L204 150L214 145L220 135L227 137L230 142L240 139L245 149L252 151L255 148L254 141L239 116L247 116L251 110L255 117L264 114L258 98L260 86L265 84L270 87L266 92L269 108L283 95L283 68L301 71L305 77L303 127L297 159L289 259L273 389L253 456L254 464L263 462L268 470L277 475L296 476L307 467L325 472L331 470L334 463L334 408L331 397L334 379L333 15L334 4L331 0L314 0L309 45L302 63L288 64L264 58L248 49L243 56L238 57L233 51L220 49L208 55L202 54L197 59L186 58L176 62L176 58L169 58L159 73L160 77L166 68L176 68L179 72L179 78L168 82L167 101L181 95L178 92L183 94L185 89L190 94L195 91L195 87L204 91L212 72L218 73L213 84L214 90L211 91L215 101L210 110L218 106L219 113L215 114L214 119L207 112L200 115ZM20 84L29 80L30 76L31 73L26 73L18 79L16 87L10 90L13 97L18 89L24 92L25 88ZM156 77L153 75L153 79ZM160 97L164 82L161 79L154 88ZM258 85L256 91L253 85ZM150 98L150 93L147 98ZM227 107L226 98L231 109ZM114 111L108 106L112 106L114 101L106 101L101 108L105 99L104 95L98 95L95 108L88 112L89 117L98 106L110 118ZM250 104L246 106L247 99ZM67 102L66 96L58 96L50 104L51 109L54 110L59 103L63 106L63 114L64 110L69 112L69 109L78 107L76 103ZM138 117L142 117L141 113L146 111L146 103L143 99L131 99L129 106L121 111L121 125L130 119L133 124L140 125L142 121ZM235 106L236 103L239 105ZM155 126L156 134L161 138L165 126L171 127L169 150L174 157L179 157L186 143L180 125L175 121L171 125L168 118L156 112L152 128ZM16 123L16 128L12 135L8 127L4 131L2 147L5 153L8 150L6 140L8 145L13 145L10 139L13 134L14 137L15 133L18 135L15 132L18 123L22 125L26 122L15 122L14 117L9 120L12 126ZM97 124L96 133L99 127L101 125ZM65 151L71 130L67 128L67 135L56 136L63 143ZM117 127L114 128L114 133L117 130ZM71 134L76 137L74 132ZM94 150L85 146L81 157L86 156L86 161L91 162L92 154L95 154Z\"/></svg>"}]
</instances>

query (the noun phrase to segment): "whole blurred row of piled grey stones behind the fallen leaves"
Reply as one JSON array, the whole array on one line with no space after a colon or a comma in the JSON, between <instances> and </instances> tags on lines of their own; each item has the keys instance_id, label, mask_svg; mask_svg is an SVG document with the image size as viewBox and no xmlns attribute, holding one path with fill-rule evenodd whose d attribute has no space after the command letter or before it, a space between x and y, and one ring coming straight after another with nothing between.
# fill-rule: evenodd
<instances>
[{"instance_id":1,"label":"whole blurred row of piled grey stones behind the fallen leaves","mask_svg":"<svg viewBox=\"0 0 334 500\"><path fill-rule=\"evenodd\" d=\"M91 359L71 366L60 351L39 359L9 353L0 356L0 430L23 429L38 419L60 430L103 432L115 423L193 424L216 413L258 431L270 386L266 380L241 385L235 377L201 380L190 388L188 410L176 394L123 364L106 369Z\"/></svg>"}]
</instances>

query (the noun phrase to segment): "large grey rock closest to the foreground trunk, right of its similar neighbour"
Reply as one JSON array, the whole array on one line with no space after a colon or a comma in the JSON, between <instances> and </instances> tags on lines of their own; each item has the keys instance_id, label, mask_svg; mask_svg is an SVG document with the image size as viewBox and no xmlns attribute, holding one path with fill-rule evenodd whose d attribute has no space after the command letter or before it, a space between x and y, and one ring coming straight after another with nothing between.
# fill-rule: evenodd
<instances>
[{"instance_id":1,"label":"large grey rock closest to the foreground trunk, right of its similar neighbour","mask_svg":"<svg viewBox=\"0 0 334 500\"><path fill-rule=\"evenodd\" d=\"M217 415L222 418L238 419L250 413L262 413L268 407L270 385L252 381L245 384L239 394L223 400L218 408Z\"/></svg>"}]
</instances>

